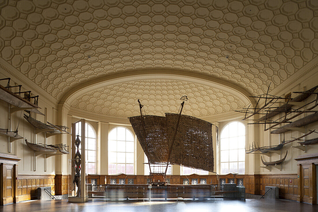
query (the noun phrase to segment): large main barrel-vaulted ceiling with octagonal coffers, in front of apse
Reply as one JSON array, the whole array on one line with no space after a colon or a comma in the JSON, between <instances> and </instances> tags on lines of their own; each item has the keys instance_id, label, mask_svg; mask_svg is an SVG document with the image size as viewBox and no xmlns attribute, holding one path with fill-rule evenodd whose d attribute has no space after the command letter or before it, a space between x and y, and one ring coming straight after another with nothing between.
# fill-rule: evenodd
<instances>
[{"instance_id":1,"label":"large main barrel-vaulted ceiling with octagonal coffers, in front of apse","mask_svg":"<svg viewBox=\"0 0 318 212\"><path fill-rule=\"evenodd\" d=\"M316 0L4 0L0 7L1 58L57 100L80 83L146 69L263 93L318 54Z\"/></svg>"}]
</instances>

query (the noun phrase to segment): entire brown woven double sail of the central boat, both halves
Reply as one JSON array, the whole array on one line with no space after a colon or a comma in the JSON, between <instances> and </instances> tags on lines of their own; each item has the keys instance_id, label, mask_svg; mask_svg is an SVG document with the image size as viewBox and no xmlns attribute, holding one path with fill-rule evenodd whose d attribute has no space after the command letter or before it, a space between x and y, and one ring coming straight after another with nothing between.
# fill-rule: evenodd
<instances>
[{"instance_id":1,"label":"entire brown woven double sail of the central boat, both halves","mask_svg":"<svg viewBox=\"0 0 318 212\"><path fill-rule=\"evenodd\" d=\"M144 139L141 117L146 139ZM166 113L165 117L147 115L129 118L150 163L168 161L178 117L179 114ZM169 162L213 172L212 124L202 119L181 115Z\"/></svg>"}]
</instances>

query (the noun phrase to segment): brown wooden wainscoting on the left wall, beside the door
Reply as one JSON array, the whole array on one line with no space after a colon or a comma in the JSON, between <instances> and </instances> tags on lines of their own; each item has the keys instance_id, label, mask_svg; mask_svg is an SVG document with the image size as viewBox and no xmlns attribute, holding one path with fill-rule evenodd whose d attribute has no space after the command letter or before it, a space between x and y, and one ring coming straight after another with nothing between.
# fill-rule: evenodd
<instances>
[{"instance_id":1,"label":"brown wooden wainscoting on the left wall, beside the door","mask_svg":"<svg viewBox=\"0 0 318 212\"><path fill-rule=\"evenodd\" d=\"M19 201L36 200L38 187L51 187L52 195L55 194L55 175L18 175L17 195Z\"/></svg>"}]
</instances>

